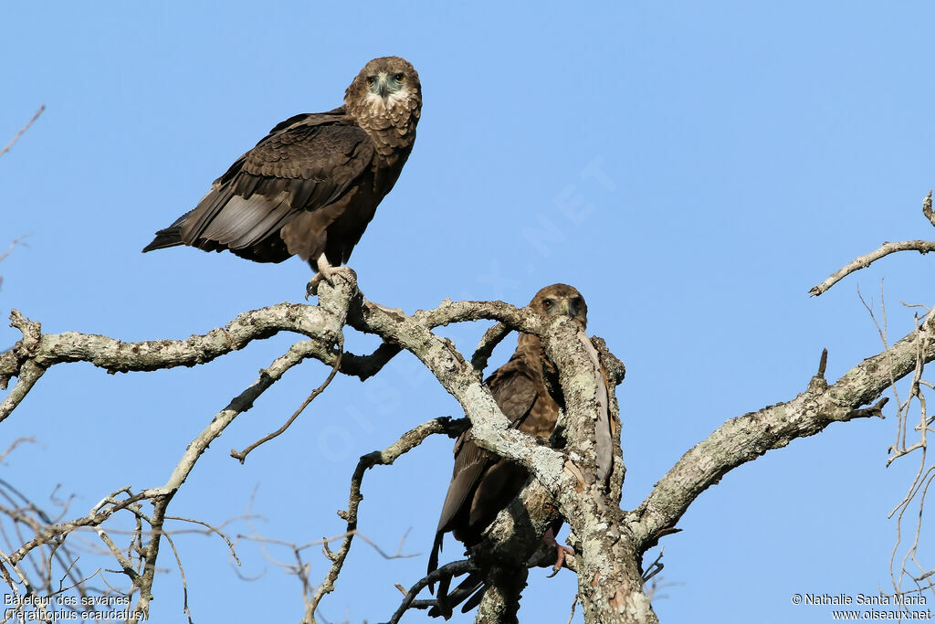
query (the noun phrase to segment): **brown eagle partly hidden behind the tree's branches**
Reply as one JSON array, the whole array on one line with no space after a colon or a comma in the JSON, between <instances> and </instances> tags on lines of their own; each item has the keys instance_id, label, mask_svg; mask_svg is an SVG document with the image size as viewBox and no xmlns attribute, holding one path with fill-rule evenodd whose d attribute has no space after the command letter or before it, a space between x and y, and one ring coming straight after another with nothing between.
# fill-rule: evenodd
<instances>
[{"instance_id":1,"label":"brown eagle partly hidden behind the tree's branches","mask_svg":"<svg viewBox=\"0 0 935 624\"><path fill-rule=\"evenodd\" d=\"M587 304L575 288L554 283L536 293L529 307L544 316L566 314L587 326ZM516 351L510 361L492 374L486 385L503 414L512 426L541 440L549 440L558 420L558 412L565 407L558 371L545 356L541 341L532 334L520 334ZM482 532L523 489L528 472L516 463L497 457L477 446L468 429L454 443L454 471L452 483L441 508L435 544L428 559L428 572L439 566L439 551L444 534L453 532L470 550L482 540ZM557 529L557 528L556 528ZM471 574L445 600L449 608L474 593L466 602L467 612L482 597L482 575ZM444 589L441 589L443 592ZM475 593L477 592L477 593ZM445 615L438 608L432 616Z\"/></svg>"}]
</instances>

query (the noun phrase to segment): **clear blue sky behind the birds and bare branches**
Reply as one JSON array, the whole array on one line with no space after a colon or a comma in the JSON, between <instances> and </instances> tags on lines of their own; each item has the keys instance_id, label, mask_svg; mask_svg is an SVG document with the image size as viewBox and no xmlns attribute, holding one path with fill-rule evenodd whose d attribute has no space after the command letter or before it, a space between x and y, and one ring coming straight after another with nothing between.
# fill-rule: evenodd
<instances>
[{"instance_id":1,"label":"clear blue sky behind the birds and bare branches","mask_svg":"<svg viewBox=\"0 0 935 624\"><path fill-rule=\"evenodd\" d=\"M0 159L0 242L30 235L0 265L0 307L46 331L179 339L299 300L309 269L298 260L139 250L275 123L338 106L360 67L385 54L416 66L424 109L410 161L352 255L361 288L411 312L444 297L519 305L548 283L577 286L589 330L626 362L627 508L727 418L803 390L822 348L829 379L877 353L858 285L879 309L885 278L894 339L912 327L899 302L931 302L931 258L918 254L807 296L884 240L930 238L919 210L935 186L928 3L52 2L4 12L0 143L48 109ZM484 328L447 335L469 352ZM0 329L0 347L18 338ZM38 441L7 457L3 478L39 501L60 485L76 495L73 515L121 486L161 485L186 443L293 340L192 370L57 366L3 424L0 440ZM349 335L348 346L375 343ZM338 534L357 457L459 414L400 356L366 384L337 379L246 465L227 456L279 427L326 374L306 363L238 417L172 513L221 523L249 508L269 538ZM705 492L663 542L662 621L825 622L829 609L790 597L888 588L895 525L885 515L915 468L885 468L895 428L892 417L829 427ZM419 556L384 560L356 544L322 604L328 621L385 621L401 598L394 584L422 576L451 461L451 442L437 438L367 474L360 530L390 551L411 530L403 551ZM243 520L227 530L251 532ZM196 621L301 617L298 582L257 547L241 544L235 571L217 538L178 543ZM313 579L326 570L314 551ZM159 563L152 621L182 621L168 551ZM530 574L523 621L568 617L573 575L545 576Z\"/></svg>"}]
</instances>

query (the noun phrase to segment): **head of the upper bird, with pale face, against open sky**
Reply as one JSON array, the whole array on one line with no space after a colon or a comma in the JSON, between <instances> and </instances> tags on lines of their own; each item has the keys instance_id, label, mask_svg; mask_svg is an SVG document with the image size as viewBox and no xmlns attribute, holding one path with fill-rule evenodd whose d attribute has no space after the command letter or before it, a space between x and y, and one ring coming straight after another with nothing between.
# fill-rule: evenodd
<instances>
[{"instance_id":1,"label":"head of the upper bird, with pale face, against open sky","mask_svg":"<svg viewBox=\"0 0 935 624\"><path fill-rule=\"evenodd\" d=\"M381 56L360 70L344 94L348 106L366 103L370 109L405 109L422 106L422 84L409 61L399 56Z\"/></svg>"}]
</instances>

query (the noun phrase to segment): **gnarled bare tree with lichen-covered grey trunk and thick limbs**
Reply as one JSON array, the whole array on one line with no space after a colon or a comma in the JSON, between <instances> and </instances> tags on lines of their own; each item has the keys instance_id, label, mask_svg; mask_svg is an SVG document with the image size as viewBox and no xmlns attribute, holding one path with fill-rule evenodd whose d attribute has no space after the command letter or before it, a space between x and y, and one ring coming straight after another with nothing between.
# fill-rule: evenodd
<instances>
[{"instance_id":1,"label":"gnarled bare tree with lichen-covered grey trunk and thick limbs","mask_svg":"<svg viewBox=\"0 0 935 624\"><path fill-rule=\"evenodd\" d=\"M578 573L578 594L585 618L588 621L650 623L656 620L643 590L641 555L662 535L675 530L679 518L700 492L736 466L759 457L771 448L782 447L795 438L813 435L831 422L880 415L885 400L871 407L865 406L879 398L893 380L914 370L920 361L920 353L922 362L935 357L935 347L930 346L935 341L928 341L928 346L920 347L920 336L933 330L927 321L893 347L850 370L834 385L825 381L823 364L819 374L796 399L732 419L712 433L706 441L686 453L660 480L640 508L626 513L619 506L625 466L619 444L619 412L612 396L612 385L620 383L625 369L603 341L588 339L567 318L543 319L535 312L517 309L500 301L449 300L443 301L438 308L407 315L368 302L355 283L343 279L335 285L321 284L318 306L280 304L245 312L226 327L203 336L193 336L187 341L122 343L103 336L74 332L42 334L39 324L26 320L19 312L14 312L11 318L14 327L22 331L23 339L10 352L0 355L0 383L8 382L13 376L18 376L19 380L7 396L5 405L7 402L9 405L4 407L6 411L0 412L0 416L6 416L16 407L28 388L36 383L41 371L57 363L90 361L109 371L155 370L208 362L242 348L252 340L262 340L280 331L292 331L308 339L296 342L268 369L261 371L259 379L215 415L209 426L189 444L164 486L149 488L136 495L151 501L154 507L151 515L144 516L138 510L134 511L136 508L132 505L141 499L127 503L127 509L137 514L139 522L150 527L145 539L142 529L137 529L138 562L127 559L137 566L131 568L136 575L128 573L139 592L134 607L137 619L149 613L155 561L164 536L163 523L169 517L166 509L194 469L198 457L237 414L250 409L253 401L286 370L309 357L331 366L332 375L341 371L364 379L380 370L399 351L410 351L464 408L473 428L474 440L482 448L516 461L529 470L531 478L520 498L497 516L494 524L485 531L484 543L472 554L472 565L484 566L484 578L490 588L479 611L482 621L515 618L516 600L522 588L515 570L525 570L529 561L541 557L537 554L539 537L557 519L565 518L571 527L572 545L577 552L574 558L568 559L568 567ZM498 325L485 333L473 363L458 352L452 341L432 331L434 327L449 323L474 320L492 320ZM379 336L381 346L369 356L349 354L344 359L341 349L335 345L345 326ZM496 341L502 340L510 330L539 336L547 356L559 371L566 402L559 427L567 441L561 451L537 443L511 428L489 390L482 385L478 368L483 366ZM611 396L602 398L600 391L607 386L605 378L610 382ZM16 394L21 386L24 389ZM15 398L10 399L14 395ZM613 462L610 482L605 484L600 478L602 469L597 465L596 423L600 414L607 417L608 408L613 433ZM325 547L332 566L324 582L307 602L304 621L315 621L318 604L326 593L333 590L350 551L356 534L364 472L377 464L393 463L432 433L456 435L466 426L465 421L429 421L412 429L382 452L361 458L352 476L348 509L340 512L347 521L347 530L338 551ZM606 467L603 470L606 471ZM127 495L130 495L128 491ZM0 573L5 578L12 579L21 573L16 567L20 560L16 555L14 552L0 560L3 566ZM299 565L302 565L300 560ZM126 568L125 565L122 567ZM500 576L497 576L498 570L501 571ZM509 574L512 575L508 578L503 571L511 571ZM431 581L425 581L420 587L428 582ZM412 590L407 592L407 599L410 605L431 603L416 601ZM401 608L405 611L408 607Z\"/></svg>"}]
</instances>

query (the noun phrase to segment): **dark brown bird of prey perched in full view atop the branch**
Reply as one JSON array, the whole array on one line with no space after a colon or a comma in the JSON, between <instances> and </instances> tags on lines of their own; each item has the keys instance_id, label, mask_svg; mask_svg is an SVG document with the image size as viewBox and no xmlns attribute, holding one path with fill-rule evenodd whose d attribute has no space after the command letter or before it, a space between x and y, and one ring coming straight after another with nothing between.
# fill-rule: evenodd
<instances>
[{"instance_id":1,"label":"dark brown bird of prey perched in full view atop the branch","mask_svg":"<svg viewBox=\"0 0 935 624\"><path fill-rule=\"evenodd\" d=\"M347 262L415 141L419 74L398 56L364 65L344 105L277 124L143 252L190 245L254 262L297 254L314 292Z\"/></svg>"}]
</instances>

